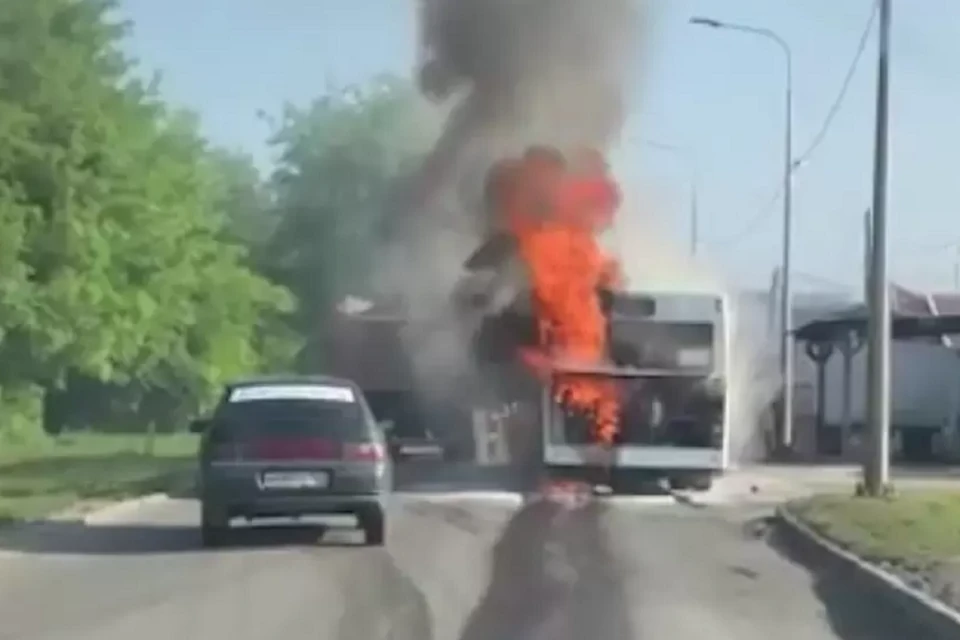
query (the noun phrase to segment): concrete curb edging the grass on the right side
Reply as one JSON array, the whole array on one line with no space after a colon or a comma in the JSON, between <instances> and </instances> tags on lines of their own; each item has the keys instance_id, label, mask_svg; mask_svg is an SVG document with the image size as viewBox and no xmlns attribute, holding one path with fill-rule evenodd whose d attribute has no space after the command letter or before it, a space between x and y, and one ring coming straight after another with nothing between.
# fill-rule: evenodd
<instances>
[{"instance_id":1,"label":"concrete curb edging the grass on the right side","mask_svg":"<svg viewBox=\"0 0 960 640\"><path fill-rule=\"evenodd\" d=\"M960 638L960 612L831 542L801 522L783 505L777 508L775 522L780 532L785 534L785 542L798 551L812 552L819 560L850 573L858 584L881 595L904 615L922 625L926 632L944 640Z\"/></svg>"}]
</instances>

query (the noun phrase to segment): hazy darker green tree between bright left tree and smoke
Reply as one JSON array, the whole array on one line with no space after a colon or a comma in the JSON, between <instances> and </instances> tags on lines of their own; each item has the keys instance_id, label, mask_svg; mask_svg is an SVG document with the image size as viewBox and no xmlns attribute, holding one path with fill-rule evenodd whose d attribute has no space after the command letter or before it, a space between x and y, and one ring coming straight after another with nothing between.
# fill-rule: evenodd
<instances>
[{"instance_id":1,"label":"hazy darker green tree between bright left tree and smoke","mask_svg":"<svg viewBox=\"0 0 960 640\"><path fill-rule=\"evenodd\" d=\"M391 197L433 133L413 85L394 77L284 111L264 264L296 294L301 335L313 337L343 296L369 290Z\"/></svg>"}]
</instances>

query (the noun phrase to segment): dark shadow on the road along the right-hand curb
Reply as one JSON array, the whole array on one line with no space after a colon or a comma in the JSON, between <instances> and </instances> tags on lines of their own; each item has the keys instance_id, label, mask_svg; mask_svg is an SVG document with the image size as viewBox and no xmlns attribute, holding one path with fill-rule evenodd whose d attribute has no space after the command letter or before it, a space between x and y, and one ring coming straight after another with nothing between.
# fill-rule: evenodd
<instances>
[{"instance_id":1,"label":"dark shadow on the road along the right-hand curb","mask_svg":"<svg viewBox=\"0 0 960 640\"><path fill-rule=\"evenodd\" d=\"M880 640L882 638L924 638L917 624L891 607L882 594L850 575L850 572L783 530L772 519L763 529L770 546L790 562L804 568L814 593L823 603L826 619L837 638L842 640Z\"/></svg>"}]
</instances>

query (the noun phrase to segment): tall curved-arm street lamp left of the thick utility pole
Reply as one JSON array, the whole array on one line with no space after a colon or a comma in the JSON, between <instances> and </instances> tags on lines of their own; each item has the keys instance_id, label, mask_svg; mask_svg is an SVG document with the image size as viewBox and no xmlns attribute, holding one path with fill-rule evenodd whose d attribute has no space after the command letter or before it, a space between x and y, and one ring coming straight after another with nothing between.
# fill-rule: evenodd
<instances>
[{"instance_id":1,"label":"tall curved-arm street lamp left of the thick utility pole","mask_svg":"<svg viewBox=\"0 0 960 640\"><path fill-rule=\"evenodd\" d=\"M771 31L741 24L721 22L712 18L690 18L690 24L740 31L759 36L774 42L783 51L786 62L786 121L783 156L783 256L780 265L780 317L783 318L783 330L780 334L780 374L783 379L783 406L781 422L783 425L782 444L789 449L793 444L793 293L790 282L790 248L793 227L793 56L786 40Z\"/></svg>"}]
</instances>

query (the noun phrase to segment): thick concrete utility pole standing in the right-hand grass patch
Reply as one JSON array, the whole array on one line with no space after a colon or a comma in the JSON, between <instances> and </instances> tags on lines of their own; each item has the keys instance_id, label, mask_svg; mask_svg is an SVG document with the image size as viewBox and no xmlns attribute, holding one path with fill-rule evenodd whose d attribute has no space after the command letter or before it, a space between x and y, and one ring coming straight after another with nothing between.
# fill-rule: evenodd
<instances>
[{"instance_id":1,"label":"thick concrete utility pole standing in the right-hand grass patch","mask_svg":"<svg viewBox=\"0 0 960 640\"><path fill-rule=\"evenodd\" d=\"M867 351L867 424L870 455L864 489L881 495L890 481L890 289L887 286L887 137L890 93L890 4L880 0L877 121L873 156L873 223L870 241L870 320Z\"/></svg>"}]
</instances>

